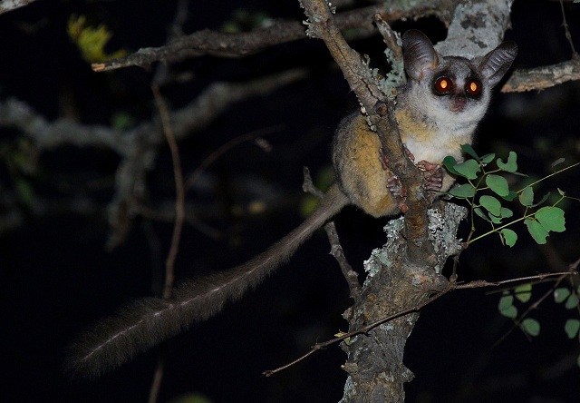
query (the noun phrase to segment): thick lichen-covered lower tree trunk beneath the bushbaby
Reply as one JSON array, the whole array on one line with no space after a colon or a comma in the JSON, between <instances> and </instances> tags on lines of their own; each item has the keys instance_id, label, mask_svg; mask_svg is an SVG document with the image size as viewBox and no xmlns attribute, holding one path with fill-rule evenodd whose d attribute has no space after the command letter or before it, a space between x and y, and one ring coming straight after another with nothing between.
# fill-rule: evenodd
<instances>
[{"instance_id":1,"label":"thick lichen-covered lower tree trunk beneath the bushbaby","mask_svg":"<svg viewBox=\"0 0 580 403\"><path fill-rule=\"evenodd\" d=\"M447 280L440 272L449 256L461 248L455 237L465 214L465 208L448 202L429 211L429 239L439 261L435 267L424 270L410 269L406 261L406 241L401 236L403 218L389 222L385 228L387 243L382 249L372 251L371 258L365 262L368 276L361 297L344 312L350 331L417 307L434 291L445 288ZM414 311L343 343L348 354L344 369L349 377L341 403L404 401L403 384L413 374L402 363L403 352L417 319L419 312Z\"/></svg>"}]
</instances>

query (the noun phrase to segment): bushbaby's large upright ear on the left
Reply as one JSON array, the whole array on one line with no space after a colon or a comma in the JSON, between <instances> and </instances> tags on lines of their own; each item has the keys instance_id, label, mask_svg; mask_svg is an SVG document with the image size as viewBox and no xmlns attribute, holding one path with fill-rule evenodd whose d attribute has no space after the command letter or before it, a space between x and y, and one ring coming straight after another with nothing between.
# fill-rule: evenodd
<instances>
[{"instance_id":1,"label":"bushbaby's large upright ear on the left","mask_svg":"<svg viewBox=\"0 0 580 403\"><path fill-rule=\"evenodd\" d=\"M402 54L405 71L412 80L420 81L426 71L439 64L439 56L429 38L416 29L402 34Z\"/></svg>"}]
</instances>

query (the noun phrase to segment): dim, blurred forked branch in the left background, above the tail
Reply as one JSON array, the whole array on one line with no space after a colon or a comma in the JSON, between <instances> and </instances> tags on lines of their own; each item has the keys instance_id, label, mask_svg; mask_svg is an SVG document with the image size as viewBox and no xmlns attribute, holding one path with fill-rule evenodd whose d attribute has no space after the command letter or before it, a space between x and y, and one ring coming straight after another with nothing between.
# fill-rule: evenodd
<instances>
[{"instance_id":1,"label":"dim, blurred forked branch in the left background, above the tail","mask_svg":"<svg viewBox=\"0 0 580 403\"><path fill-rule=\"evenodd\" d=\"M233 103L266 95L281 86L302 80L306 75L305 70L295 69L247 83L211 84L195 101L169 113L175 138L179 141L203 129ZM121 162L115 175L115 194L108 208L111 234L107 247L112 249L124 240L131 229L131 211L140 206L145 197L146 174L152 169L156 153L164 143L158 119L140 123L124 132L64 118L49 123L26 103L8 99L0 103L0 126L19 129L39 151L73 145L105 147L117 152Z\"/></svg>"}]
</instances>

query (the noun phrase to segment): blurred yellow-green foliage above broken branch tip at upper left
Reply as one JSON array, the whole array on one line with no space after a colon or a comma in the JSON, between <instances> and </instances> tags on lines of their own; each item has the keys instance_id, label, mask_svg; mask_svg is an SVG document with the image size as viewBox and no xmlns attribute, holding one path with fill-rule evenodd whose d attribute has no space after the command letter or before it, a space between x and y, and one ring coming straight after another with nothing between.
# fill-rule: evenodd
<instances>
[{"instance_id":1,"label":"blurred yellow-green foliage above broken branch tip at upper left","mask_svg":"<svg viewBox=\"0 0 580 403\"><path fill-rule=\"evenodd\" d=\"M105 46L112 37L106 25L99 25L96 28L86 26L84 15L71 15L67 26L67 31L73 43L81 51L82 58L89 63L103 62L117 57L123 57L126 52L121 49L112 54L107 54Z\"/></svg>"}]
</instances>

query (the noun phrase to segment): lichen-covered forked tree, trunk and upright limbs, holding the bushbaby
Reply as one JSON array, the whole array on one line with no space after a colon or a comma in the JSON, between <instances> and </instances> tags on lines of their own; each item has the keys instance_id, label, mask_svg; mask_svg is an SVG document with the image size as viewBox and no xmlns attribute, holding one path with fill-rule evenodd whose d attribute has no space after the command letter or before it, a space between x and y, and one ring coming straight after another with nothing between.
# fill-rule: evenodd
<instances>
[{"instance_id":1,"label":"lichen-covered forked tree, trunk and upright limbs, holding the bushbaby","mask_svg":"<svg viewBox=\"0 0 580 403\"><path fill-rule=\"evenodd\" d=\"M376 127L389 168L408 190L409 210L404 220L391 221L387 244L382 251L373 253L374 266L367 268L369 275L361 298L355 299L353 307L344 314L349 318L349 329L362 329L365 323L420 304L433 290L445 289L445 279L436 275L435 270L440 272L449 255L458 251L459 242L454 236L462 214L448 209L428 216L421 191L422 175L404 152L392 103L370 74L366 61L350 48L334 25L329 5L324 0L302 0L301 5L308 17L306 33L324 40L370 123ZM500 0L458 5L449 25L449 42L438 44L440 53L466 57L485 54L503 37L509 24L510 6L511 1ZM457 220L451 221L449 215ZM445 241L437 243L435 250L430 230L448 220L453 225L445 231L451 236L447 233ZM418 318L418 313L411 313L394 319L343 346L348 354L344 368L349 377L342 403L404 401L403 384L412 378L412 373L402 363L403 351Z\"/></svg>"}]
</instances>

